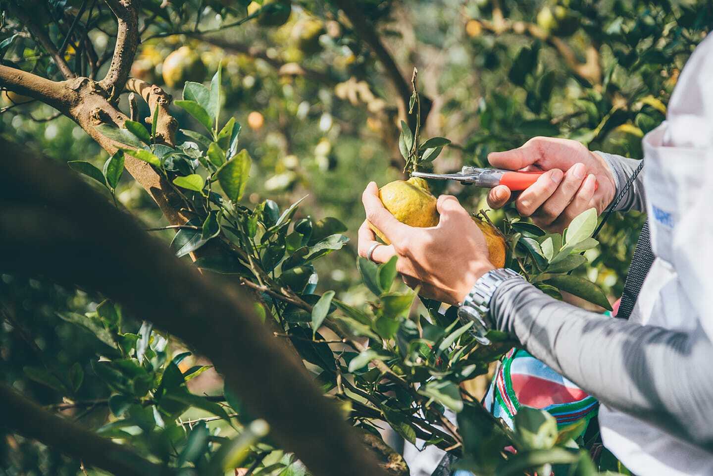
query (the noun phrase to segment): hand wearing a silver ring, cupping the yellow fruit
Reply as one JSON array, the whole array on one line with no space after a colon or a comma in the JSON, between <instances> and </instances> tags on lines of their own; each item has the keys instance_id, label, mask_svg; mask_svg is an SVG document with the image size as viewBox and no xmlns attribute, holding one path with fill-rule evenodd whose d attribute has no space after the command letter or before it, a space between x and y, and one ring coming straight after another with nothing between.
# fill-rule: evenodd
<instances>
[{"instance_id":1,"label":"hand wearing a silver ring, cupping the yellow fruit","mask_svg":"<svg viewBox=\"0 0 713 476\"><path fill-rule=\"evenodd\" d=\"M458 304L476 280L494 266L488 261L488 246L480 228L456 197L438 197L441 214L438 225L414 228L396 220L379 199L379 188L371 182L361 196L366 221L359 228L359 255L366 258L376 236L371 222L389 238L391 245L379 245L371 255L376 263L398 256L396 270L411 288L443 303Z\"/></svg>"}]
</instances>

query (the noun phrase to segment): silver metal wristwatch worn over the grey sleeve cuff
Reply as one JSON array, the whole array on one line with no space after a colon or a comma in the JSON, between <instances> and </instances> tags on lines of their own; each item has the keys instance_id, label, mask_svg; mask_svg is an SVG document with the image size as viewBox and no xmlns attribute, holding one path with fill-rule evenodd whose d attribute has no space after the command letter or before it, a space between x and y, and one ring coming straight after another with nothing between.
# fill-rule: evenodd
<instances>
[{"instance_id":1,"label":"silver metal wristwatch worn over the grey sleeve cuff","mask_svg":"<svg viewBox=\"0 0 713 476\"><path fill-rule=\"evenodd\" d=\"M490 302L495 290L503 281L510 278L520 278L518 273L508 268L498 268L488 271L476 281L471 292L466 295L463 303L458 306L458 318L468 323L473 321L471 332L476 340L483 345L490 345L486 338L488 330L493 328L490 315Z\"/></svg>"}]
</instances>

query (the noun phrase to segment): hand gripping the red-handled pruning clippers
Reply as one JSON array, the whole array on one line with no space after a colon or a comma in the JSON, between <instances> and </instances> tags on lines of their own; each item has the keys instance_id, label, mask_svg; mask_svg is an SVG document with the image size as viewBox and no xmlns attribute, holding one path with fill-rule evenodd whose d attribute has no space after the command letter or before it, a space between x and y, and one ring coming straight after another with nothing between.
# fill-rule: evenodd
<instances>
[{"instance_id":1,"label":"hand gripping the red-handled pruning clippers","mask_svg":"<svg viewBox=\"0 0 713 476\"><path fill-rule=\"evenodd\" d=\"M545 230L561 232L592 207L602 213L616 193L607 163L577 141L535 137L511 151L491 152L488 161L508 170L548 171L515 198L518 213L532 217ZM488 193L491 208L501 208L510 200L511 191L503 185Z\"/></svg>"}]
</instances>

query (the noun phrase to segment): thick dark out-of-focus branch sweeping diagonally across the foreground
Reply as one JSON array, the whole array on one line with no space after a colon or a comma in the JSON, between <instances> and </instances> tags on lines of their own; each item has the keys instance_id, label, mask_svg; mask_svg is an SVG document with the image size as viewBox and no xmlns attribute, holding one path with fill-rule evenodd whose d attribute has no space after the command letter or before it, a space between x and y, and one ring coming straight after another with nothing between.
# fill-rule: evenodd
<instances>
[{"instance_id":1,"label":"thick dark out-of-focus branch sweeping diagonally across the foreground","mask_svg":"<svg viewBox=\"0 0 713 476\"><path fill-rule=\"evenodd\" d=\"M66 168L3 139L0 147L4 269L101 290L183 339L212 360L228 388L314 475L385 475L302 364L260 323L244 291L175 258Z\"/></svg>"}]
</instances>

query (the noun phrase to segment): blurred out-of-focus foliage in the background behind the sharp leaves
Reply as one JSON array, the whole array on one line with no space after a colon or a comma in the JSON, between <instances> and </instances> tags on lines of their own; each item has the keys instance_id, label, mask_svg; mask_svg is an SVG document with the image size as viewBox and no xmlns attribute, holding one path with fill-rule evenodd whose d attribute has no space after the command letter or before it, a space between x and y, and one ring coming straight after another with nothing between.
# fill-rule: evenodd
<instances>
[{"instance_id":1,"label":"blurred out-of-focus foliage in the background behind the sharp leaves","mask_svg":"<svg viewBox=\"0 0 713 476\"><path fill-rule=\"evenodd\" d=\"M352 240L315 263L318 288L337 290L344 302L364 305L366 289L354 266L356 229L364 218L360 195L369 181L383 185L401 177L399 87L340 9L342 1L282 2L286 10L242 22L260 8L258 3L145 0L143 41L131 76L180 98L185 81L210 80L222 62L224 119L230 115L242 124L242 146L253 158L243 201L252 207L271 198L284 208L307 195L296 218L343 221ZM58 44L71 19L90 18L91 7L86 28L93 48L100 63L111 58L116 21L103 2L21 5L42 19ZM679 71L713 23L712 5L704 0L361 0L357 8L404 77L413 66L419 69L419 89L431 101L424 133L452 141L434 164L439 172L483 166L488 152L540 135L575 138L590 150L642 158L640 139L665 118ZM5 61L58 79L31 35L3 19L2 39L19 32L0 47ZM86 69L86 48L70 44L64 55L73 67ZM2 96L4 136L57 161L91 161L99 168L106 161L106 152L70 119L56 117L53 108L14 93ZM121 101L127 111L125 96ZM140 108L139 117L147 116L148 108ZM193 121L173 110L180 124ZM486 191L433 185L434 193L453 193L468 209L486 208ZM117 198L147 227L166 224L128 174ZM491 213L494 221L503 216ZM590 263L580 270L612 300L621 293L642 220L637 213L613 215L598 237L600 248L588 251ZM173 237L170 231L157 234ZM56 361L51 368L71 368L94 355L96 342L55 311L91 313L99 300L41 279L0 278L0 374L29 397L56 402L57 390L23 369L41 367L48 355ZM130 332L139 332L140 320L126 322ZM200 364L200 358L187 362ZM207 393L222 388L212 371L192 385ZM75 396L108 395L106 385L87 380ZM89 407L75 415L98 426L107 413L106 407ZM197 415L205 413L189 416ZM20 437L0 443L0 460L10 462L0 466L6 475L78 470L76 463Z\"/></svg>"}]
</instances>

